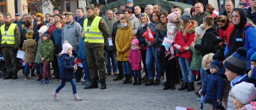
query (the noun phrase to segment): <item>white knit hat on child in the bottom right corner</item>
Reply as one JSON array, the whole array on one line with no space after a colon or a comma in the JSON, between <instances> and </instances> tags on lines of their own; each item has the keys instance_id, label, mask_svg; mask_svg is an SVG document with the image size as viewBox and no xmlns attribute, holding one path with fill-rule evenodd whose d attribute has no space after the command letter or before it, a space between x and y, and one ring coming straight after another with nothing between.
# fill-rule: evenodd
<instances>
[{"instance_id":1,"label":"white knit hat on child in the bottom right corner","mask_svg":"<svg viewBox=\"0 0 256 110\"><path fill-rule=\"evenodd\" d=\"M231 89L231 93L242 104L249 104L256 96L256 88L254 84L242 82L236 84Z\"/></svg>"}]
</instances>

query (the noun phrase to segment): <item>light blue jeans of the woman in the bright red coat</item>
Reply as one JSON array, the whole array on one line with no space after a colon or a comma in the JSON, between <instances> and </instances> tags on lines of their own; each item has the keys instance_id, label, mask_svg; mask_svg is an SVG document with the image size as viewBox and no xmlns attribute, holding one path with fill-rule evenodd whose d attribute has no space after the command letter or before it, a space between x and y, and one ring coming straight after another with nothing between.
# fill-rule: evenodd
<instances>
[{"instance_id":1,"label":"light blue jeans of the woman in the bright red coat","mask_svg":"<svg viewBox=\"0 0 256 110\"><path fill-rule=\"evenodd\" d=\"M188 83L188 75L187 75L187 70L188 70L189 77L190 77L190 83L194 83L195 75L192 74L192 69L190 69L190 64L188 62L188 59L179 56L179 65L180 65L180 69L182 71L182 76L183 76L184 82Z\"/></svg>"}]
</instances>

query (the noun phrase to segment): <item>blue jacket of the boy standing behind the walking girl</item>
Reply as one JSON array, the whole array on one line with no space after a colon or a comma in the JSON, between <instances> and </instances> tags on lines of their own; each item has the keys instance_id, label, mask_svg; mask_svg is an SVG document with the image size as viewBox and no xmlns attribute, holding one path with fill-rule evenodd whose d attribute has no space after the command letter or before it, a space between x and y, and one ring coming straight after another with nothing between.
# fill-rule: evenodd
<instances>
[{"instance_id":1,"label":"blue jacket of the boy standing behind the walking girl","mask_svg":"<svg viewBox=\"0 0 256 110\"><path fill-rule=\"evenodd\" d=\"M62 26L63 28L63 26ZM62 38L61 38L61 33L62 33L62 29L55 29L53 32L52 32L52 42L54 44L54 54L59 54L61 53L61 41L62 41Z\"/></svg>"}]
</instances>

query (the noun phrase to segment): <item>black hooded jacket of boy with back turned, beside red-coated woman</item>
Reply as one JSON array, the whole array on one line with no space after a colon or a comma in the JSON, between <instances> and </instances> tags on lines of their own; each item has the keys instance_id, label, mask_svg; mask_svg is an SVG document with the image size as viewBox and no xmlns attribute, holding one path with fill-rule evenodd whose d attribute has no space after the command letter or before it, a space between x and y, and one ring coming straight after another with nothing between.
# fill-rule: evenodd
<instances>
[{"instance_id":1,"label":"black hooded jacket of boy with back turned, beside red-coated woman","mask_svg":"<svg viewBox=\"0 0 256 110\"><path fill-rule=\"evenodd\" d=\"M219 42L216 35L218 35L218 32L212 26L211 28L205 30L201 44L195 44L195 49L201 51L202 57L209 53L215 54L218 51L217 46Z\"/></svg>"}]
</instances>

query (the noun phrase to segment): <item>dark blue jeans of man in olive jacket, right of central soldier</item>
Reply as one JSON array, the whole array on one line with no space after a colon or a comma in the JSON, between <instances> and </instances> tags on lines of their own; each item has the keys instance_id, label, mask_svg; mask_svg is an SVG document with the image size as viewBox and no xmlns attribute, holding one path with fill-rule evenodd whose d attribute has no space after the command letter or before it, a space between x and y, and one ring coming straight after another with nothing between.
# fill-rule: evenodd
<instances>
[{"instance_id":1,"label":"dark blue jeans of man in olive jacket, right of central soldier","mask_svg":"<svg viewBox=\"0 0 256 110\"><path fill-rule=\"evenodd\" d=\"M105 51L105 63L106 63L106 68L107 68L107 73L111 73L111 62L110 58L113 61L112 66L113 66L113 73L117 72L117 60L116 60L116 50L108 50Z\"/></svg>"}]
</instances>

